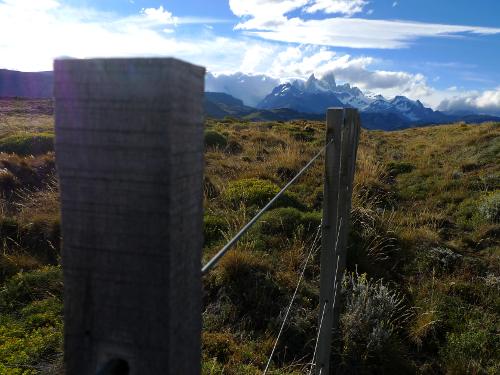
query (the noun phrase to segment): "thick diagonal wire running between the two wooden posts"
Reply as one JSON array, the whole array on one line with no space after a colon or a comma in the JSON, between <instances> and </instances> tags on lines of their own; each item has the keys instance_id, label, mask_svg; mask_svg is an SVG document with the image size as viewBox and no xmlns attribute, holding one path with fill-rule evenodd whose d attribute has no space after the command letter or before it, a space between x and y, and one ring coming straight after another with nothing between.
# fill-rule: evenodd
<instances>
[{"instance_id":1,"label":"thick diagonal wire running between the two wooden posts","mask_svg":"<svg viewBox=\"0 0 500 375\"><path fill-rule=\"evenodd\" d=\"M302 176L313 163L321 156L321 154L332 144L333 140L328 142L325 146L318 151L316 155L313 156L311 160L274 196L273 199L269 201L253 218L250 220L243 228L240 229L236 235L231 238L222 249L220 249L217 254L215 254L201 269L201 273L205 275L212 268L214 268L224 255L238 242L238 240L243 237L243 235L259 220L259 218L288 190L288 188L297 181L300 176Z\"/></svg>"}]
</instances>

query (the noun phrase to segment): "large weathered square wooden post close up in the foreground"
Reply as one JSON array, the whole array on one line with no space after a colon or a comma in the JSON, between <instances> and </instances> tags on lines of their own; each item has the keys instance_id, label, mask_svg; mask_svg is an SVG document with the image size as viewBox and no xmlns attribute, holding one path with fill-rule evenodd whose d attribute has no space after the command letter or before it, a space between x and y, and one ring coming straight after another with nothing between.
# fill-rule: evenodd
<instances>
[{"instance_id":1,"label":"large weathered square wooden post close up in the foreground","mask_svg":"<svg viewBox=\"0 0 500 375\"><path fill-rule=\"evenodd\" d=\"M199 374L204 69L54 68L66 373Z\"/></svg>"}]
</instances>

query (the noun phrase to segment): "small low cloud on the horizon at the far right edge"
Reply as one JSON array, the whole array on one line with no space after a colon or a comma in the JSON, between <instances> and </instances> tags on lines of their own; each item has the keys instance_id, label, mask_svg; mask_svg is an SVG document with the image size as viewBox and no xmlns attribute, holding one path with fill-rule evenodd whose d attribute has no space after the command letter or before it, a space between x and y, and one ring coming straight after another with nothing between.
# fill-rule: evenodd
<instances>
[{"instance_id":1,"label":"small low cloud on the horizon at the far right edge","mask_svg":"<svg viewBox=\"0 0 500 375\"><path fill-rule=\"evenodd\" d=\"M450 112L472 111L500 116L500 87L495 90L454 95L444 99L438 109Z\"/></svg>"}]
</instances>

